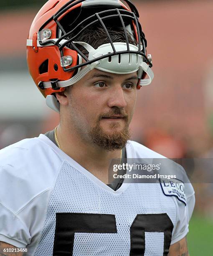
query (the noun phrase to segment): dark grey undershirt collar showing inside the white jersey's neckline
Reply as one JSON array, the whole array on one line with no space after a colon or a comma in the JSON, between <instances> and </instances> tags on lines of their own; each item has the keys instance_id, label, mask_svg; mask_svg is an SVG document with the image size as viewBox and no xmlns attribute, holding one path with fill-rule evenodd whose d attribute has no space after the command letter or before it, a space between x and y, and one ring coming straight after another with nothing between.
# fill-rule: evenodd
<instances>
[{"instance_id":1,"label":"dark grey undershirt collar showing inside the white jersey's neckline","mask_svg":"<svg viewBox=\"0 0 213 256\"><path fill-rule=\"evenodd\" d=\"M44 135L47 136L54 144L57 145L56 141L55 141L55 136L54 136L54 130L52 131L48 131L46 132ZM121 164L125 164L126 163L126 158L127 158L127 154L126 154L126 148L122 148L122 161ZM120 175L125 174L126 170L122 169L120 171ZM114 179L114 181L110 184L107 184L107 186L111 187L113 190L117 190L119 189L119 187L122 185L124 179Z\"/></svg>"}]
</instances>

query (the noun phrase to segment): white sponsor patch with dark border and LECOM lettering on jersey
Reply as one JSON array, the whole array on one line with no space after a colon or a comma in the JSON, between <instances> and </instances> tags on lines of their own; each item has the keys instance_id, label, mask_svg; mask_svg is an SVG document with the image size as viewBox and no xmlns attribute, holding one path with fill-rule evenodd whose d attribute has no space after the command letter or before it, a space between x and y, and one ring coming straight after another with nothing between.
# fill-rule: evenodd
<instances>
[{"instance_id":1,"label":"white sponsor patch with dark border and LECOM lettering on jersey","mask_svg":"<svg viewBox=\"0 0 213 256\"><path fill-rule=\"evenodd\" d=\"M186 205L185 186L179 179L160 179L160 185L164 195L177 197Z\"/></svg>"}]
</instances>

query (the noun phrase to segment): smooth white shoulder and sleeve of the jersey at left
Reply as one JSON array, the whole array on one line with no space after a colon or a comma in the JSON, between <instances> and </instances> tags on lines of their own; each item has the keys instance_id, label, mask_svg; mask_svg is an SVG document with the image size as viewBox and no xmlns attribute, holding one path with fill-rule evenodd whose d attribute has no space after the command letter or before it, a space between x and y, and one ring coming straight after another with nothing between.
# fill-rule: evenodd
<instances>
[{"instance_id":1,"label":"smooth white shoulder and sleeve of the jersey at left","mask_svg":"<svg viewBox=\"0 0 213 256\"><path fill-rule=\"evenodd\" d=\"M0 241L16 247L36 243L61 165L60 158L48 158L53 154L48 150L26 139L0 151Z\"/></svg>"}]
</instances>

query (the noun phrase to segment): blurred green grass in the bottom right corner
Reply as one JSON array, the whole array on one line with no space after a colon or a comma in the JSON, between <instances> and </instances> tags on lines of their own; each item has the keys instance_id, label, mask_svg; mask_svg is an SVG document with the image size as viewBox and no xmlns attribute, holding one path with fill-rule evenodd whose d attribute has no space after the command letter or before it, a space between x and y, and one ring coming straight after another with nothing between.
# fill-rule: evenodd
<instances>
[{"instance_id":1,"label":"blurred green grass in the bottom right corner","mask_svg":"<svg viewBox=\"0 0 213 256\"><path fill-rule=\"evenodd\" d=\"M213 256L213 219L193 215L187 240L190 256Z\"/></svg>"}]
</instances>

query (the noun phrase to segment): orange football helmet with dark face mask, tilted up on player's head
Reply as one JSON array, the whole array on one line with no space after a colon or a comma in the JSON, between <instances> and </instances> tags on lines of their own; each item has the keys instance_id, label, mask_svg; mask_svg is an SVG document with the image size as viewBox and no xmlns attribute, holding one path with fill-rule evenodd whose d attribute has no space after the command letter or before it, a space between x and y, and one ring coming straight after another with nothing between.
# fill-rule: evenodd
<instances>
[{"instance_id":1,"label":"orange football helmet with dark face mask, tilted up on player's head","mask_svg":"<svg viewBox=\"0 0 213 256\"><path fill-rule=\"evenodd\" d=\"M98 0L61 0L60 5L56 3L45 13L49 6L43 6L30 28L27 51L30 74L45 97L62 92L93 68L117 74L138 71L139 80L147 73L150 79L144 79L137 88L150 84L153 73L146 54L147 41L137 9L130 1L125 2L131 9L119 0L102 0L101 3ZM93 34L96 27L101 28L102 36L104 34L108 40L94 49L86 42L86 36L88 31ZM112 34L117 29L122 32L122 39L115 41ZM85 40L78 41L82 34ZM84 66L87 67L81 69ZM47 72L41 74L41 67Z\"/></svg>"}]
</instances>

